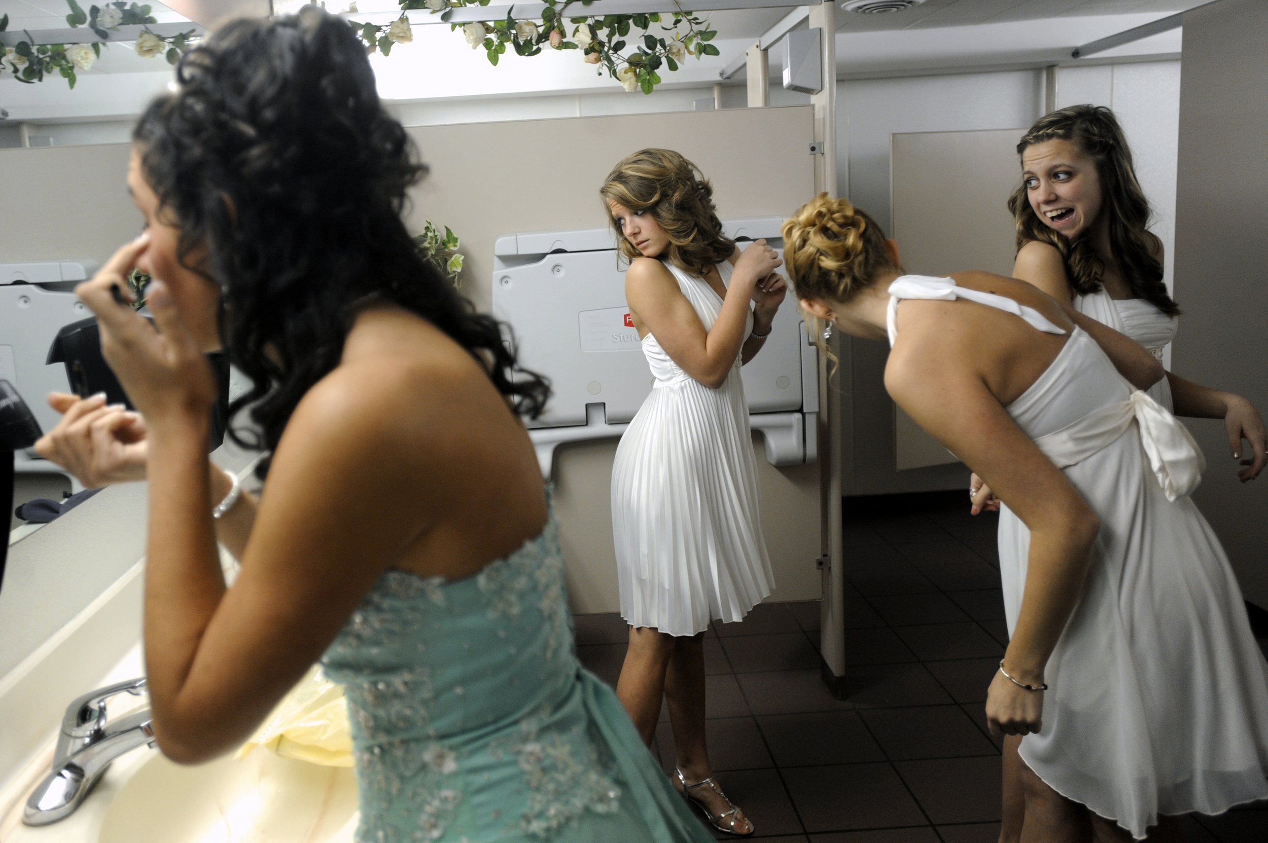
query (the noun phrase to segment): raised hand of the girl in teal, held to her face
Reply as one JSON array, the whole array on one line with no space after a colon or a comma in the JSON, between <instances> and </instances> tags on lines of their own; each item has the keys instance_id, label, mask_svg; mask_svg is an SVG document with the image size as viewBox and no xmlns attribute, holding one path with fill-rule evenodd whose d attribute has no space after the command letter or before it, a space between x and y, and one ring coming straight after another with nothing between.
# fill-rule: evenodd
<instances>
[{"instance_id":1,"label":"raised hand of the girl in teal, held to her face","mask_svg":"<svg viewBox=\"0 0 1268 843\"><path fill-rule=\"evenodd\" d=\"M156 279L147 288L153 325L131 307L126 279L148 243L148 235L142 235L119 248L75 293L96 314L101 355L150 427L190 421L205 425L216 401L216 382L166 285Z\"/></svg>"}]
</instances>

